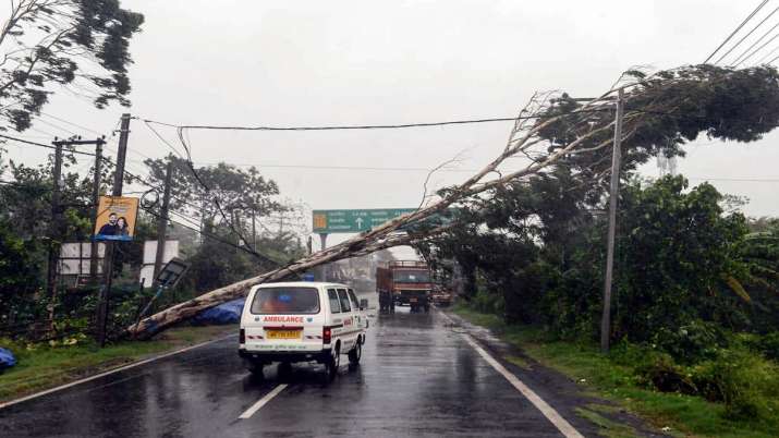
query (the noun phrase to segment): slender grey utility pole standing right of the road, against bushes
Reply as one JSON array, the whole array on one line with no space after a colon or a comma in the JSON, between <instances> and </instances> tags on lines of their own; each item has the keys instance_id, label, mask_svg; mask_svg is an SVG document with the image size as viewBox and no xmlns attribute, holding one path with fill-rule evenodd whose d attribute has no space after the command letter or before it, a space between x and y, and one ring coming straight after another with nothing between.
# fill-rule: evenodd
<instances>
[{"instance_id":1,"label":"slender grey utility pole standing right of the road, against bushes","mask_svg":"<svg viewBox=\"0 0 779 438\"><path fill-rule=\"evenodd\" d=\"M604 314L600 319L600 351L608 353L611 334L611 280L614 269L614 234L617 231L617 202L619 200L620 160L622 158L622 113L624 93L619 89L617 97L617 120L614 121L614 144L611 156L611 184L609 187L609 234L606 248L606 279L604 281Z\"/></svg>"}]
</instances>

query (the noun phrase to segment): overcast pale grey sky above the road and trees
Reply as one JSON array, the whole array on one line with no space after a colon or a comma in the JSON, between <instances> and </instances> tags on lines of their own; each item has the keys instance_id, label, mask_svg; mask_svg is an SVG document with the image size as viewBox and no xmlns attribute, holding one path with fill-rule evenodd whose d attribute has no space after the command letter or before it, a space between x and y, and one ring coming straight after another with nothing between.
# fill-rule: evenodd
<instances>
[{"instance_id":1,"label":"overcast pale grey sky above the road and trees","mask_svg":"<svg viewBox=\"0 0 779 438\"><path fill-rule=\"evenodd\" d=\"M249 1L123 0L146 15L132 41L133 115L170 123L306 125L511 117L535 90L593 96L633 65L702 62L757 1ZM45 111L96 131L123 110L60 93ZM48 122L89 134L64 123ZM25 137L68 135L50 124ZM510 123L395 131L191 132L196 162L256 165L283 195L312 208L414 207L424 171L463 153L464 179L503 146ZM46 132L47 134L41 133ZM174 130L161 133L175 141ZM737 145L706 138L679 170L698 179L774 179L777 135ZM115 143L111 144L115 148ZM129 169L168 153L133 121ZM9 146L38 162L46 151ZM283 166L283 167L263 167ZM88 163L84 162L84 166ZM645 172L656 175L656 168ZM713 181L779 216L779 182Z\"/></svg>"}]
</instances>

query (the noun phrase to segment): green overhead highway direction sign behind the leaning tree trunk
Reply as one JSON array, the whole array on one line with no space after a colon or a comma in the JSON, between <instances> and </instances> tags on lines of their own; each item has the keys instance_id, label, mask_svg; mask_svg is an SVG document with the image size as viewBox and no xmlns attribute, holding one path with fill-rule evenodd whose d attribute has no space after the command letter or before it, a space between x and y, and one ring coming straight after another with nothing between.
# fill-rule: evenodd
<instances>
[{"instance_id":1,"label":"green overhead highway direction sign behind the leaning tree trunk","mask_svg":"<svg viewBox=\"0 0 779 438\"><path fill-rule=\"evenodd\" d=\"M365 210L314 210L314 232L361 233L416 208L374 208Z\"/></svg>"}]
</instances>

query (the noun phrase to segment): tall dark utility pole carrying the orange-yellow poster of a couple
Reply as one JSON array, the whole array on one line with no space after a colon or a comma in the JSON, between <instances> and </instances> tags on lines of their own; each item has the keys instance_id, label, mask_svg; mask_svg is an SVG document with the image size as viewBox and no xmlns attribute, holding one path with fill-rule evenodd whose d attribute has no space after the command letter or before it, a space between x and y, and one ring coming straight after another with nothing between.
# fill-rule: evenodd
<instances>
[{"instance_id":1,"label":"tall dark utility pole carrying the orange-yellow poster of a couple","mask_svg":"<svg viewBox=\"0 0 779 438\"><path fill-rule=\"evenodd\" d=\"M122 122L119 132L119 149L117 150L117 169L113 174L112 196L122 196L124 185L124 159L127 155L127 137L130 136L130 114L122 114ZM106 256L102 263L105 283L100 289L97 303L97 341L100 346L106 345L106 328L108 326L108 297L113 280L113 255L115 242L106 242Z\"/></svg>"}]
</instances>

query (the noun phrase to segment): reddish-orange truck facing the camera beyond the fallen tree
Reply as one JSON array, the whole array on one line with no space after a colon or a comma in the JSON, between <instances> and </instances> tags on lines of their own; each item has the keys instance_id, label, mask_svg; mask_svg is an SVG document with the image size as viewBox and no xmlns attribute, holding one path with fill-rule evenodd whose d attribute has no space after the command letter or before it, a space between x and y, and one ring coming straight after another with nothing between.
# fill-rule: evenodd
<instances>
[{"instance_id":1,"label":"reddish-orange truck facing the camera beyond the fallen tree","mask_svg":"<svg viewBox=\"0 0 779 438\"><path fill-rule=\"evenodd\" d=\"M394 260L376 268L376 290L381 312L394 313L395 305L409 305L411 312L430 311L433 279L424 261Z\"/></svg>"}]
</instances>

